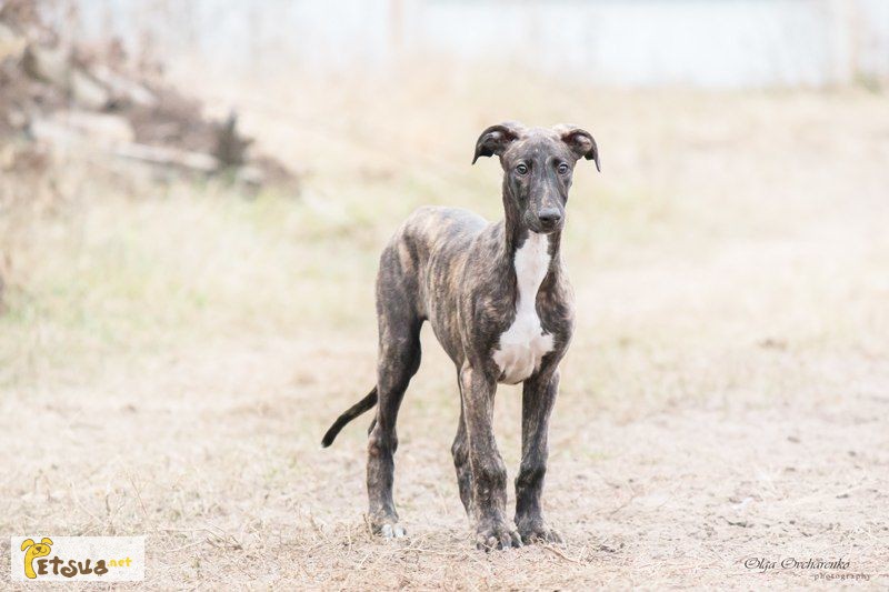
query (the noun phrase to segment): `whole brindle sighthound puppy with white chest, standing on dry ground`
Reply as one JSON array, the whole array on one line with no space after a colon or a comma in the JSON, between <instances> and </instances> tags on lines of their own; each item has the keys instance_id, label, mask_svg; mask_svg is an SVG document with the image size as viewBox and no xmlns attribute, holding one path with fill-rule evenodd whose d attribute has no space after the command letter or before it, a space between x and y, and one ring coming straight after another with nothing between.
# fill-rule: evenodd
<instances>
[{"instance_id":1,"label":"whole brindle sighthound puppy with white chest, standing on dry ground","mask_svg":"<svg viewBox=\"0 0 889 592\"><path fill-rule=\"evenodd\" d=\"M457 367L462 405L451 452L477 545L560 541L540 504L558 367L573 328L559 245L575 163L586 158L599 169L599 152L579 128L503 123L482 132L472 163L492 154L503 167L505 220L488 223L466 210L421 208L383 250L377 385L322 441L329 446L343 425L379 402L369 430L367 480L371 522L387 538L404 535L392 501L396 419L420 365L420 327L429 321ZM507 471L491 424L498 382L523 382L515 525L506 513Z\"/></svg>"}]
</instances>

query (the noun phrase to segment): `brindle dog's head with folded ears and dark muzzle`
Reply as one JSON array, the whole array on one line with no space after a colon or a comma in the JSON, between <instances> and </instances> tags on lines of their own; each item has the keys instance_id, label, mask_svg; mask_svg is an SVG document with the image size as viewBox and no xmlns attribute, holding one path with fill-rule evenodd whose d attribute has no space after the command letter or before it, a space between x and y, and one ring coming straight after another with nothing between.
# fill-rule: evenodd
<instances>
[{"instance_id":1,"label":"brindle dog's head with folded ears and dark muzzle","mask_svg":"<svg viewBox=\"0 0 889 592\"><path fill-rule=\"evenodd\" d=\"M601 170L592 134L573 126L491 126L476 142L472 163L495 154L503 167L507 207L513 207L519 223L532 232L556 232L565 225L565 205L578 160L592 160Z\"/></svg>"}]
</instances>

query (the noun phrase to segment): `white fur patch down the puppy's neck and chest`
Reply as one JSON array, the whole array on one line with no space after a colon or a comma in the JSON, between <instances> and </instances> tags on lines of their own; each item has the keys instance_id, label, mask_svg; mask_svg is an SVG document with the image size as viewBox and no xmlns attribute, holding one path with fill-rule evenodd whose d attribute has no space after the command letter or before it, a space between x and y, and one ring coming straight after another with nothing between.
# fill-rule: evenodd
<instances>
[{"instance_id":1,"label":"white fur patch down the puppy's neck and chest","mask_svg":"<svg viewBox=\"0 0 889 592\"><path fill-rule=\"evenodd\" d=\"M537 315L537 291L549 270L549 238L531 232L516 251L516 279L519 295L516 320L500 335L493 361L500 368L500 382L516 384L540 367L540 360L552 351L552 335L543 334Z\"/></svg>"}]
</instances>

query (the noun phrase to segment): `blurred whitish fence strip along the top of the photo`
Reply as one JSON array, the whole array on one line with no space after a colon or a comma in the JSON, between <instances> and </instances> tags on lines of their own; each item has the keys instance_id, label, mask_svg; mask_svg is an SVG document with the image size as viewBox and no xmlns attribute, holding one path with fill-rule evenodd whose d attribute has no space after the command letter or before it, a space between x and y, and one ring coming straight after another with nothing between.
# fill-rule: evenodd
<instances>
[{"instance_id":1,"label":"blurred whitish fence strip along the top of the photo","mask_svg":"<svg viewBox=\"0 0 889 592\"><path fill-rule=\"evenodd\" d=\"M384 70L404 56L619 87L889 79L889 0L79 0L109 30L227 70Z\"/></svg>"}]
</instances>

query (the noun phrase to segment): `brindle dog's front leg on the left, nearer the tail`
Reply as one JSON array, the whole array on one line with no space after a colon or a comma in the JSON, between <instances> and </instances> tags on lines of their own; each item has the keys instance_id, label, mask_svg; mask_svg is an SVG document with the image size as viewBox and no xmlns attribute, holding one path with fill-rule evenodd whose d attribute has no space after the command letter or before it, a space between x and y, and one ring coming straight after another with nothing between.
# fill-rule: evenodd
<instances>
[{"instance_id":1,"label":"brindle dog's front leg on the left, nearer the tail","mask_svg":"<svg viewBox=\"0 0 889 592\"><path fill-rule=\"evenodd\" d=\"M476 545L485 550L521 546L516 526L506 516L507 469L493 437L497 379L465 364L460 382L472 472L471 515L476 522Z\"/></svg>"}]
</instances>

